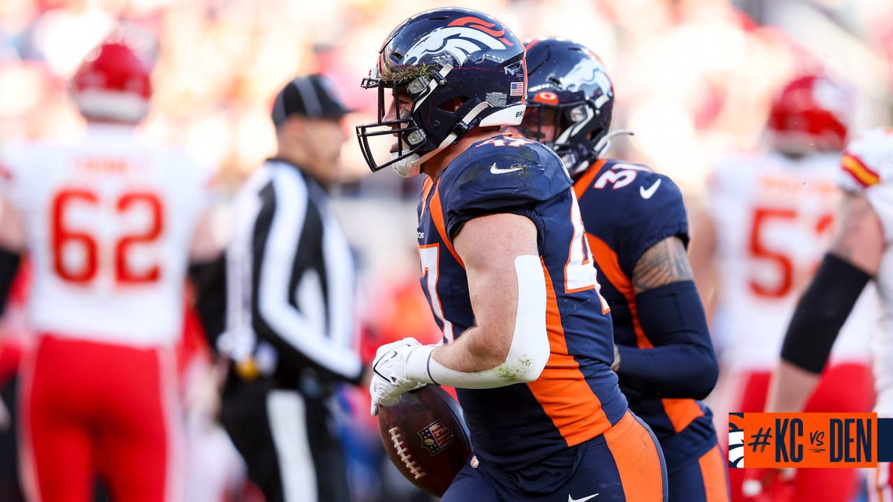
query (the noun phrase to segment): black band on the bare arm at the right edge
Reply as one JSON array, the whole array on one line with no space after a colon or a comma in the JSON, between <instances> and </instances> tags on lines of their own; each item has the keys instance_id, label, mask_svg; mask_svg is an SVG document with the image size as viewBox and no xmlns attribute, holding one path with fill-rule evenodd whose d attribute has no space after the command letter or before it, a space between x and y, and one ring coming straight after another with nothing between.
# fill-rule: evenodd
<instances>
[{"instance_id":1,"label":"black band on the bare arm at the right edge","mask_svg":"<svg viewBox=\"0 0 893 502\"><path fill-rule=\"evenodd\" d=\"M807 372L821 373L840 328L871 278L846 260L826 254L797 303L781 358Z\"/></svg>"}]
</instances>

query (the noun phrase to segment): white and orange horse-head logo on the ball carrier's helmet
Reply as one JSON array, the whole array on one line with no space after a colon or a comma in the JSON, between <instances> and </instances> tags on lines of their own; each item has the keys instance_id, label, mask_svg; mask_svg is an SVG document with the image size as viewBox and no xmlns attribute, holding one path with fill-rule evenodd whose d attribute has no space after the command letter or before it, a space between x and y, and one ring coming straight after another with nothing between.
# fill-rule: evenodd
<instances>
[{"instance_id":1,"label":"white and orange horse-head logo on the ball carrier's helmet","mask_svg":"<svg viewBox=\"0 0 893 502\"><path fill-rule=\"evenodd\" d=\"M470 26L466 26L470 25ZM463 17L452 21L445 28L431 31L428 37L422 38L404 54L405 64L418 64L428 54L449 54L455 63L461 66L468 57L488 48L501 50L513 46L504 37L505 29L490 29L496 26L473 17Z\"/></svg>"}]
</instances>

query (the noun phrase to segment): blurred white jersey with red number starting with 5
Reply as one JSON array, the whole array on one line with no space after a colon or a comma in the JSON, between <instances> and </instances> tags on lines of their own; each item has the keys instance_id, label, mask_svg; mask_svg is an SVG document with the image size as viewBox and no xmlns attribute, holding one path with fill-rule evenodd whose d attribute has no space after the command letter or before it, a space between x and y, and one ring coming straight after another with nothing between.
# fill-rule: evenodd
<instances>
[{"instance_id":1,"label":"blurred white jersey with red number starting with 5","mask_svg":"<svg viewBox=\"0 0 893 502\"><path fill-rule=\"evenodd\" d=\"M711 175L721 285L714 336L723 364L769 371L797 300L830 245L842 193L837 155L792 160L779 154L722 163ZM831 352L834 362L867 364L877 325L877 293L866 288Z\"/></svg>"}]
</instances>

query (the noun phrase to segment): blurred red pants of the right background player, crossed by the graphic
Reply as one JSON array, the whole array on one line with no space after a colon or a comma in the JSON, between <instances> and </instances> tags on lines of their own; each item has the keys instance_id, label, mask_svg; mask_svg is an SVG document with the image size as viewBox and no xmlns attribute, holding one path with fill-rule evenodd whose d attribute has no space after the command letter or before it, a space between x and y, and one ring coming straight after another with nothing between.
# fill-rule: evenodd
<instances>
[{"instance_id":1,"label":"blurred red pants of the right background player, crossed by the graphic","mask_svg":"<svg viewBox=\"0 0 893 502\"><path fill-rule=\"evenodd\" d=\"M762 412L771 378L770 372L746 375L744 396L739 406L730 411ZM867 413L873 402L872 369L865 364L837 364L822 373L822 380L803 411ZM729 469L732 502L744 499L741 494L744 473L744 469ZM794 476L794 498L790 502L845 502L852 500L858 489L858 469L799 469Z\"/></svg>"}]
</instances>

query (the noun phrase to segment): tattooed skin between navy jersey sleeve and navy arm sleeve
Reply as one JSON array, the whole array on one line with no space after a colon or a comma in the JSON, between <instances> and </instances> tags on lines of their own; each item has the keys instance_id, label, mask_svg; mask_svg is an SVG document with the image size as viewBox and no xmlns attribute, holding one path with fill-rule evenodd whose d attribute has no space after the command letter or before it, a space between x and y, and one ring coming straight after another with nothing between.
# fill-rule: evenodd
<instances>
[{"instance_id":1,"label":"tattooed skin between navy jersey sleeve and navy arm sleeve","mask_svg":"<svg viewBox=\"0 0 893 502\"><path fill-rule=\"evenodd\" d=\"M664 238L643 254L632 270L634 294L672 282L694 280L685 245L678 237Z\"/></svg>"}]
</instances>

